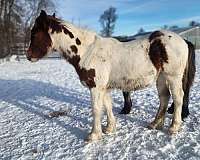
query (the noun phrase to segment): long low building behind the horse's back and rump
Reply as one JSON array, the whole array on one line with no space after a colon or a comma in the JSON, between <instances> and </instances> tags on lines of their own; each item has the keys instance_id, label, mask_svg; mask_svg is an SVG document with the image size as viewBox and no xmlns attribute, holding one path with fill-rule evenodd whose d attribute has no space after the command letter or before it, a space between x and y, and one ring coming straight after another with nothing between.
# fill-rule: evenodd
<instances>
[{"instance_id":1,"label":"long low building behind the horse's back and rump","mask_svg":"<svg viewBox=\"0 0 200 160\"><path fill-rule=\"evenodd\" d=\"M171 31L179 34L184 39L192 42L195 45L196 49L200 49L200 26L174 28ZM118 39L121 42L127 42L130 40L146 38L151 33L152 32L144 32L144 33L135 34L133 36L117 36L114 38Z\"/></svg>"}]
</instances>

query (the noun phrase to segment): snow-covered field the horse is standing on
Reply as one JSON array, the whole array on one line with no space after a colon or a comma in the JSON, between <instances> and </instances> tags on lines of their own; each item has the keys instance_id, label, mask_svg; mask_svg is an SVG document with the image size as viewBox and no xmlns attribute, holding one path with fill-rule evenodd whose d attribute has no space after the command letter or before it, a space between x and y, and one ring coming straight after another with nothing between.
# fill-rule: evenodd
<instances>
[{"instance_id":1,"label":"snow-covered field the horse is standing on","mask_svg":"<svg viewBox=\"0 0 200 160\"><path fill-rule=\"evenodd\" d=\"M0 64L0 159L200 159L200 54L196 61L191 114L178 135L167 133L171 115L162 131L146 128L159 103L155 87L150 87L132 94L134 108L129 115L118 114L122 93L113 91L117 132L90 144L84 142L92 121L89 91L69 64L58 59L4 62Z\"/></svg>"}]
</instances>

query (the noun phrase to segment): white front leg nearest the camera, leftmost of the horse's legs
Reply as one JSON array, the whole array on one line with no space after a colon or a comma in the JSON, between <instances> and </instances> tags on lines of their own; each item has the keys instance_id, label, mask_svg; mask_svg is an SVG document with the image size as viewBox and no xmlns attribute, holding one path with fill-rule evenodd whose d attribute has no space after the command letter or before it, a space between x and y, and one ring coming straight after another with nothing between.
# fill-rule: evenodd
<instances>
[{"instance_id":1,"label":"white front leg nearest the camera, leftmost of the horse's legs","mask_svg":"<svg viewBox=\"0 0 200 160\"><path fill-rule=\"evenodd\" d=\"M91 91L92 99L92 131L86 138L86 141L94 141L102 138L102 128L101 128L101 112L103 108L103 97L105 92L101 89L93 88Z\"/></svg>"}]
</instances>

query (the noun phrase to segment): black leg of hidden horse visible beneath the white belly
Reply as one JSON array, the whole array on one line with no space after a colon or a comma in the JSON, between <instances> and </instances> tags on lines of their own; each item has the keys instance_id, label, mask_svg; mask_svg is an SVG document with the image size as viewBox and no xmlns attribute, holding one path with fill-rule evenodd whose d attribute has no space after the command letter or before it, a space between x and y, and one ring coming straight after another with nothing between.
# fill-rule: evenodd
<instances>
[{"instance_id":1,"label":"black leg of hidden horse visible beneath the white belly","mask_svg":"<svg viewBox=\"0 0 200 160\"><path fill-rule=\"evenodd\" d=\"M131 93L123 92L123 97L124 97L124 108L121 110L120 114L129 114L132 107Z\"/></svg>"}]
</instances>

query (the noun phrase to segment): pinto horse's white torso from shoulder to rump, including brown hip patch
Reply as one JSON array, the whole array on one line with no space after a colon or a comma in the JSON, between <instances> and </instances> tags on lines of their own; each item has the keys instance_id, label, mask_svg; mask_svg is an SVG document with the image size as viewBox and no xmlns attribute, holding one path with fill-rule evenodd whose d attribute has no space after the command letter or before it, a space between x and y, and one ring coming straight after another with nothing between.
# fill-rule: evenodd
<instances>
[{"instance_id":1,"label":"pinto horse's white torso from shoulder to rump, including brown hip patch","mask_svg":"<svg viewBox=\"0 0 200 160\"><path fill-rule=\"evenodd\" d=\"M90 64L100 68L96 69L96 79L108 88L123 90L152 84L160 71L166 75L183 73L188 57L185 41L170 31L157 31L127 43L100 38L95 46Z\"/></svg>"}]
</instances>

